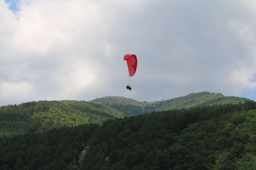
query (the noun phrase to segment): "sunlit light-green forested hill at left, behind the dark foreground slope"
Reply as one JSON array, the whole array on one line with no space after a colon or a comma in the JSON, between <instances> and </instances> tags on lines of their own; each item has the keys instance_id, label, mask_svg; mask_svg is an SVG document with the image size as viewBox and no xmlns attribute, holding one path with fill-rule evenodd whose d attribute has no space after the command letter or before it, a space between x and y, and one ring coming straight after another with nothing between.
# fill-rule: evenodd
<instances>
[{"instance_id":1,"label":"sunlit light-green forested hill at left, behind the dark foreground slope","mask_svg":"<svg viewBox=\"0 0 256 170\"><path fill-rule=\"evenodd\" d=\"M44 132L81 124L102 124L124 113L82 101L38 101L0 107L0 136Z\"/></svg>"}]
</instances>

